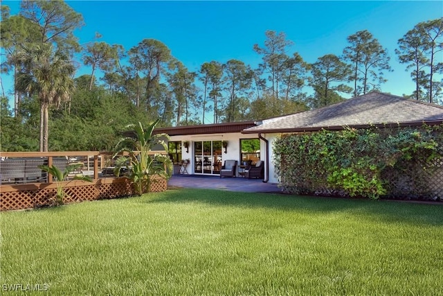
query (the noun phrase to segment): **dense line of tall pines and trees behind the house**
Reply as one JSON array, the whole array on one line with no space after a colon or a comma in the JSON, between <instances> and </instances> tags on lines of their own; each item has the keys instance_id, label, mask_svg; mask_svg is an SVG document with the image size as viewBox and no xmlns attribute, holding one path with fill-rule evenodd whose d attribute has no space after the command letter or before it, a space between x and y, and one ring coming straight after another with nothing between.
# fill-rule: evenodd
<instances>
[{"instance_id":1,"label":"dense line of tall pines and trees behind the house","mask_svg":"<svg viewBox=\"0 0 443 296\"><path fill-rule=\"evenodd\" d=\"M8 6L1 15L1 72L15 81L12 109L1 84L1 150L110 150L136 121L177 126L300 112L343 101L345 94L382 91L384 73L392 71L387 49L369 31L347 37L343 55L326 54L313 64L283 32L266 31L263 44L251 44L262 57L256 69L232 59L192 71L159 40L124 49L97 34L81 46L73 32L84 20L64 1L21 1L18 15ZM399 39L397 56L416 84L410 97L441 103L442 81L435 76L443 73L442 40L443 18L419 23ZM91 73L74 78L80 64Z\"/></svg>"}]
</instances>

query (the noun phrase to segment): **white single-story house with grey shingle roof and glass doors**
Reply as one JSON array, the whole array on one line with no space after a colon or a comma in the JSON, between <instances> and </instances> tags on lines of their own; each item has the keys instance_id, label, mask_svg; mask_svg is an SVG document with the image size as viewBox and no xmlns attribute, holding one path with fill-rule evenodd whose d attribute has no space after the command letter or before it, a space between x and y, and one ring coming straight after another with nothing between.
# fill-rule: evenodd
<instances>
[{"instance_id":1,"label":"white single-story house with grey shingle roof and glass doors","mask_svg":"<svg viewBox=\"0 0 443 296\"><path fill-rule=\"evenodd\" d=\"M443 106L412 99L370 92L316 110L278 116L262 121L156 128L155 133L170 135L170 156L185 160L181 173L219 175L221 164L234 159L236 175L242 175L244 162L264 162L264 182L278 182L273 166L273 141L280 134L379 128L390 126L440 125ZM226 148L225 148L226 146ZM184 171L186 169L186 172Z\"/></svg>"}]
</instances>

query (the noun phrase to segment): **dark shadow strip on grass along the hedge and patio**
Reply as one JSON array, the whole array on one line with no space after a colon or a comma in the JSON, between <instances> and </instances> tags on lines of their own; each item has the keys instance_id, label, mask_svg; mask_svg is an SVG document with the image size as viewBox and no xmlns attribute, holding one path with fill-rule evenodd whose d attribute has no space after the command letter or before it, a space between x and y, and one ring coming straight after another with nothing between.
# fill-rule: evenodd
<instances>
[{"instance_id":1,"label":"dark shadow strip on grass along the hedge and patio","mask_svg":"<svg viewBox=\"0 0 443 296\"><path fill-rule=\"evenodd\" d=\"M199 202L213 207L269 208L280 211L307 211L313 214L343 212L386 223L443 225L440 204L410 204L385 200L325 198L282 193L244 193L212 189L168 189L147 203Z\"/></svg>"}]
</instances>

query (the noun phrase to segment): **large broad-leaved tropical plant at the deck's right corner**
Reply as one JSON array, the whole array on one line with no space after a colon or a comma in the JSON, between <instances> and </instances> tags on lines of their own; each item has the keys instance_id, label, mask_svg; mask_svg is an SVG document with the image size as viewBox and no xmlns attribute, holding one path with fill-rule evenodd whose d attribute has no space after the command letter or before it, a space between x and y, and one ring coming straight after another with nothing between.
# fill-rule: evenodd
<instances>
[{"instance_id":1,"label":"large broad-leaved tropical plant at the deck's right corner","mask_svg":"<svg viewBox=\"0 0 443 296\"><path fill-rule=\"evenodd\" d=\"M169 139L168 134L152 134L154 128L160 119L150 123L146 130L142 124L127 125L127 128L134 128L131 133L134 137L125 137L121 139L114 157L116 159L115 175L120 175L120 169L129 166L129 173L125 177L134 183L134 189L138 195L142 195L150 190L152 182L156 182L154 176L159 176L168 180L172 175L172 160L168 156L168 144L164 139ZM163 146L166 153L152 154L154 146ZM121 154L127 155L121 155Z\"/></svg>"}]
</instances>

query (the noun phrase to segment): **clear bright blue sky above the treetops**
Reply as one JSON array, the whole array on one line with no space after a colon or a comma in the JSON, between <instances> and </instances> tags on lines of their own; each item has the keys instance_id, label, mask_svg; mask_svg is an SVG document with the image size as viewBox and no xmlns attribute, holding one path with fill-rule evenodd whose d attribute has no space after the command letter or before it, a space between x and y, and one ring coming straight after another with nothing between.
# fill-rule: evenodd
<instances>
[{"instance_id":1,"label":"clear bright blue sky above the treetops","mask_svg":"<svg viewBox=\"0 0 443 296\"><path fill-rule=\"evenodd\" d=\"M341 55L347 36L368 30L388 49L391 67L383 92L410 94L413 81L399 64L397 40L415 24L443 16L443 1L66 1L84 17L80 43L122 44L126 50L145 38L160 40L190 71L217 60L242 60L257 67L264 32L284 32L309 63L328 53ZM18 1L2 1L16 14ZM89 69L78 70L78 75ZM3 81L7 84L7 80ZM7 85L5 85L6 88ZM9 87L10 88L10 87Z\"/></svg>"}]
</instances>

